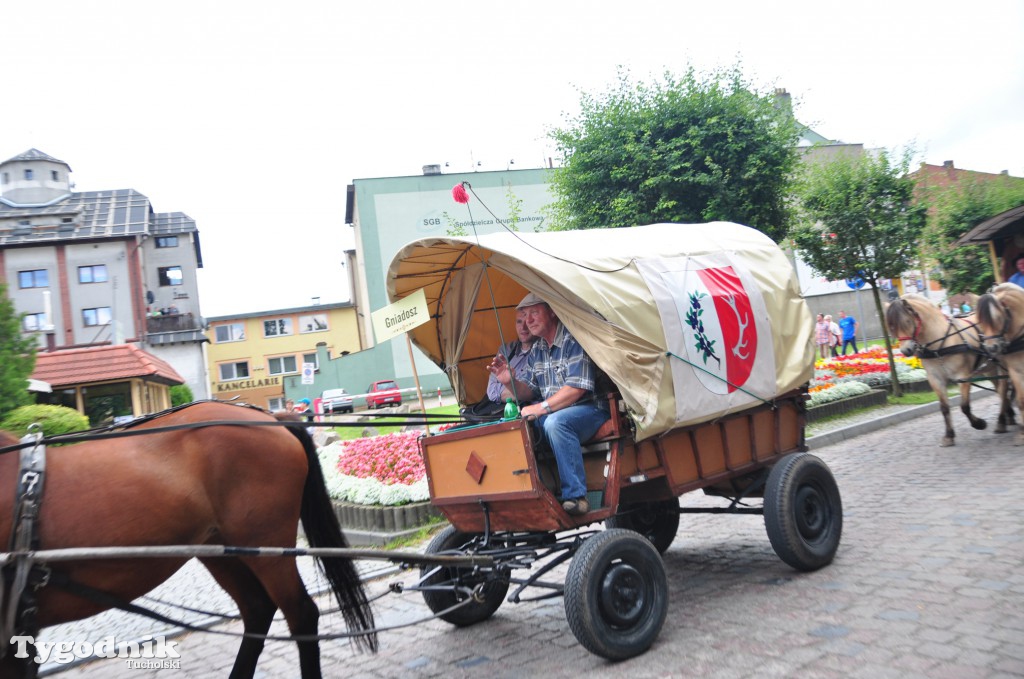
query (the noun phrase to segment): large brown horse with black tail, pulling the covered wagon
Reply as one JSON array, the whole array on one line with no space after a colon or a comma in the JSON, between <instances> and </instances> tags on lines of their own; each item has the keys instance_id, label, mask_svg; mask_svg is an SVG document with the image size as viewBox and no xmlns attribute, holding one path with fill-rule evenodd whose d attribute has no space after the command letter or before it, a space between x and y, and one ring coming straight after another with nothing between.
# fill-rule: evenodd
<instances>
[{"instance_id":1,"label":"large brown horse with black tail, pulling the covered wagon","mask_svg":"<svg viewBox=\"0 0 1024 679\"><path fill-rule=\"evenodd\" d=\"M249 425L273 418L262 411L201 402L132 429L204 422L199 428L49 447L38 521L39 549L228 545L294 547L299 519L313 547L346 547L332 511L304 427ZM0 447L16 443L0 432ZM18 454L0 455L0 536L11 533ZM52 569L75 583L124 601L170 578L185 558L54 562ZM294 558L202 559L238 604L247 633L264 635L280 608L293 635L315 635L318 611L299 577ZM349 630L373 629L373 612L358 574L347 558L321 560ZM56 579L59 580L59 579ZM3 585L7 587L6 584ZM59 586L38 591L38 627L92 616L110 607ZM38 630L37 630L38 631ZM371 650L372 633L356 637ZM7 639L0 643L7 643ZM243 639L231 677L252 677L263 649L260 638ZM303 678L319 677L319 646L298 642ZM16 666L11 647L0 660L0 677L34 671ZM32 655L34 653L30 653ZM5 663L7 665L5 665Z\"/></svg>"}]
</instances>

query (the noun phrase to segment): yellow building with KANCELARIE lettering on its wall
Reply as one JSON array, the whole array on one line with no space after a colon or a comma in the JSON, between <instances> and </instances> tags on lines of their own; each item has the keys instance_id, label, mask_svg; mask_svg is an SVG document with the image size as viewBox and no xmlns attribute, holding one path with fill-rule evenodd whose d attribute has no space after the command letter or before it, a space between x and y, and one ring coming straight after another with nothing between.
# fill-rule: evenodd
<instances>
[{"instance_id":1,"label":"yellow building with KANCELARIE lettering on its wall","mask_svg":"<svg viewBox=\"0 0 1024 679\"><path fill-rule=\"evenodd\" d=\"M312 365L309 384L301 394L312 400L351 381L339 374L333 357L359 351L355 307L350 303L314 304L272 311L211 316L209 323L210 392L221 400L239 398L247 404L282 410L285 379L302 382L303 365Z\"/></svg>"}]
</instances>

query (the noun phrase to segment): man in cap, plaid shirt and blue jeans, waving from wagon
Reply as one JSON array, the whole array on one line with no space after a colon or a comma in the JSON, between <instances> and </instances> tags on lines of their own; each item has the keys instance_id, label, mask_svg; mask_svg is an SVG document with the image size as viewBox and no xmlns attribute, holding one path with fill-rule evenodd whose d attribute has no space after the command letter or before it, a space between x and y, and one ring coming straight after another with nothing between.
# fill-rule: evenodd
<instances>
[{"instance_id":1,"label":"man in cap, plaid shirt and blue jeans, waving from wagon","mask_svg":"<svg viewBox=\"0 0 1024 679\"><path fill-rule=\"evenodd\" d=\"M555 455L561 481L562 509L579 516L590 511L587 477L581 443L591 438L608 419L607 410L594 393L595 369L590 356L569 334L547 302L530 293L516 306L526 314L526 327L537 340L527 357L523 379L516 379L522 416L538 418L538 425ZM498 355L487 369L511 388L508 363Z\"/></svg>"}]
</instances>

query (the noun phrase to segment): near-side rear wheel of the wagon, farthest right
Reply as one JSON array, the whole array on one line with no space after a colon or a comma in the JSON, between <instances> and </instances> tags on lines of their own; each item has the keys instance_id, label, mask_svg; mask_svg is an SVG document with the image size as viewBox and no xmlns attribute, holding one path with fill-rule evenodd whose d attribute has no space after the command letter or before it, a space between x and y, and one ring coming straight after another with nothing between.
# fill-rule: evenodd
<instances>
[{"instance_id":1,"label":"near-side rear wheel of the wagon, farthest right","mask_svg":"<svg viewBox=\"0 0 1024 679\"><path fill-rule=\"evenodd\" d=\"M831 470L807 453L787 455L765 484L765 529L778 557L798 570L831 563L843 533L843 501Z\"/></svg>"}]
</instances>

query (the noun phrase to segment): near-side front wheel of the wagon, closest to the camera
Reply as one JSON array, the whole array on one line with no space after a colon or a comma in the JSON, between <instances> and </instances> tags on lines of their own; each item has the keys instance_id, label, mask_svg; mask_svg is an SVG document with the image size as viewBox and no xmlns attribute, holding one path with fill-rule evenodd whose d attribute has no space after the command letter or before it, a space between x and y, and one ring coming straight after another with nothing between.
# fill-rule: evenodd
<instances>
[{"instance_id":1,"label":"near-side front wheel of the wagon, closest to the camera","mask_svg":"<svg viewBox=\"0 0 1024 679\"><path fill-rule=\"evenodd\" d=\"M669 610L665 564L651 543L625 528L587 539L565 577L565 619L590 652L624 660L654 643Z\"/></svg>"}]
</instances>

